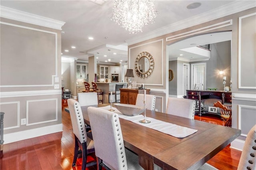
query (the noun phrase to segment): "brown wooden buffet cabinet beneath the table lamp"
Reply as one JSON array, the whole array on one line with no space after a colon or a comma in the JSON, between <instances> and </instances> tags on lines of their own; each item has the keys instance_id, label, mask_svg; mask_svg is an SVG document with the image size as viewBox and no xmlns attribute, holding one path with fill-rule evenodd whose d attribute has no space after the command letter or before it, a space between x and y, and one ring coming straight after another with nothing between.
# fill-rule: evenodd
<instances>
[{"instance_id":1,"label":"brown wooden buffet cabinet beneath the table lamp","mask_svg":"<svg viewBox=\"0 0 256 170\"><path fill-rule=\"evenodd\" d=\"M146 89L149 94L150 89ZM120 103L135 105L138 94L144 94L144 89L120 89Z\"/></svg>"}]
</instances>

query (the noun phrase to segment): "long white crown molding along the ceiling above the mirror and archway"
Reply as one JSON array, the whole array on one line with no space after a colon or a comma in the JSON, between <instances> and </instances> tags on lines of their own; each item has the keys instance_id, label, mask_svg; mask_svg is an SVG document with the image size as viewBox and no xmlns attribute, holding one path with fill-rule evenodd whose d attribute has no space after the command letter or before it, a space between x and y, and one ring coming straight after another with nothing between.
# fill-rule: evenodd
<instances>
[{"instance_id":1,"label":"long white crown molding along the ceiling above the mirror and archway","mask_svg":"<svg viewBox=\"0 0 256 170\"><path fill-rule=\"evenodd\" d=\"M156 38L158 36L169 34L171 32L175 32L178 30L196 26L196 25L202 24L204 22L208 22L208 21L215 20L215 19L218 19L218 18L221 18L224 16L235 14L237 12L241 12L243 10L247 10L247 9L254 8L254 7L256 7L256 3L254 0L248 0L248 1L247 0L236 0L234 2L231 2L229 4L221 6L220 8L216 8L214 10L210 10L208 12L198 14L196 16L187 18L185 20L182 20L182 21L170 24L168 26L156 29L154 31L148 32L141 36L136 36L135 38L128 39L125 42L128 43L128 45L132 45L132 44L135 44L138 42L146 41L151 38ZM202 17L202 16L204 16L204 17Z\"/></svg>"}]
</instances>

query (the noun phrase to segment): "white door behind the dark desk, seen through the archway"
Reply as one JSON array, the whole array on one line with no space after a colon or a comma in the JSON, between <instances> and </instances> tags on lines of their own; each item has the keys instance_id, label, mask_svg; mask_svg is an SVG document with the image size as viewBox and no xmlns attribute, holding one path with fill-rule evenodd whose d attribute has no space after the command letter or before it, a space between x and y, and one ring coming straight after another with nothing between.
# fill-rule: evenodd
<instances>
[{"instance_id":1,"label":"white door behind the dark desk, seen through the archway","mask_svg":"<svg viewBox=\"0 0 256 170\"><path fill-rule=\"evenodd\" d=\"M191 89L205 90L206 63L191 64Z\"/></svg>"}]
</instances>

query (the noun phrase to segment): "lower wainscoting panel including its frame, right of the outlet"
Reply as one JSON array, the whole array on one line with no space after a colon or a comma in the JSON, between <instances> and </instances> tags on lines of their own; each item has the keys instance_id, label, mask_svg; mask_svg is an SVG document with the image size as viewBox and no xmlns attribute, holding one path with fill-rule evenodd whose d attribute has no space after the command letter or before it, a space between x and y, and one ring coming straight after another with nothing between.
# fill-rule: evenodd
<instances>
[{"instance_id":1,"label":"lower wainscoting panel including its frame, right of the outlet","mask_svg":"<svg viewBox=\"0 0 256 170\"><path fill-rule=\"evenodd\" d=\"M58 121L58 99L30 100L26 107L27 126Z\"/></svg>"}]
</instances>

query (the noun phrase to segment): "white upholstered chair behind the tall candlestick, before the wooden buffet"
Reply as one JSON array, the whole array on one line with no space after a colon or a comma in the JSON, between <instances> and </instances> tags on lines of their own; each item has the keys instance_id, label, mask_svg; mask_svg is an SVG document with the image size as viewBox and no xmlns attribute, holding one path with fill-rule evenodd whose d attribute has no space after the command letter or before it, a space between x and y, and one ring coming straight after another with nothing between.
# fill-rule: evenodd
<instances>
[{"instance_id":1,"label":"white upholstered chair behind the tall candlestick, before the wooden buffet","mask_svg":"<svg viewBox=\"0 0 256 170\"><path fill-rule=\"evenodd\" d=\"M150 111L155 110L156 96L155 95L146 95L146 109ZM137 106L144 107L144 94L138 94L136 99Z\"/></svg>"}]
</instances>

